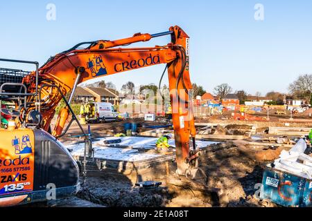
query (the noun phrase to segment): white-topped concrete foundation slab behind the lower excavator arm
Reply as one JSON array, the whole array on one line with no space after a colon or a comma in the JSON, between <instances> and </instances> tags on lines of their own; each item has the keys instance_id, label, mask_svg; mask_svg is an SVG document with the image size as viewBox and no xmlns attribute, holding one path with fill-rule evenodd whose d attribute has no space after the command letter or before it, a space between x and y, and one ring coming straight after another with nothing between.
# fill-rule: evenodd
<instances>
[{"instance_id":1,"label":"white-topped concrete foundation slab behind the lower excavator arm","mask_svg":"<svg viewBox=\"0 0 312 221\"><path fill-rule=\"evenodd\" d=\"M105 145L105 140L121 139L119 144ZM166 167L167 163L175 160L175 151L155 151L153 137L105 137L93 143L94 157L87 158L87 171L98 173L98 171L116 171L118 173L130 174L133 171L144 171L146 169L157 169ZM170 141L174 146L174 140ZM232 147L232 143L197 141L198 148L202 153ZM79 162L83 162L85 144L67 145L71 154Z\"/></svg>"}]
</instances>

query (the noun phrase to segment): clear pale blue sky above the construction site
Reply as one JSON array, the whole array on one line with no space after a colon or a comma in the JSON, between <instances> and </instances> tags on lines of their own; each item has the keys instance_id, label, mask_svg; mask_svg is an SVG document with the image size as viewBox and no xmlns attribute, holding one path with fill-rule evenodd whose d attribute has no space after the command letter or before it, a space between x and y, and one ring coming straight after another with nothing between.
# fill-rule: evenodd
<instances>
[{"instance_id":1,"label":"clear pale blue sky above the construction site","mask_svg":"<svg viewBox=\"0 0 312 221\"><path fill-rule=\"evenodd\" d=\"M46 5L56 21L46 20ZM262 3L265 20L254 20ZM44 64L81 41L162 32L179 25L191 37L191 80L206 90L227 83L248 93L287 92L312 73L312 1L6 1L0 3L0 57ZM135 46L167 44L169 37ZM23 66L24 68L24 66ZM28 69L31 67L27 67ZM117 88L156 83L164 66L105 77Z\"/></svg>"}]
</instances>

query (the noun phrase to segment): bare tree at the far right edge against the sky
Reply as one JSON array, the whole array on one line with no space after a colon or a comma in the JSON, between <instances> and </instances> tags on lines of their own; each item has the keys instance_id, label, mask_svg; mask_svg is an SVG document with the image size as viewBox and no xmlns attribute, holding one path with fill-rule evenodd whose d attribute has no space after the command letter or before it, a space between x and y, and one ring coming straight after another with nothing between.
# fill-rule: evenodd
<instances>
[{"instance_id":1,"label":"bare tree at the far right edge against the sky","mask_svg":"<svg viewBox=\"0 0 312 221\"><path fill-rule=\"evenodd\" d=\"M297 98L310 100L312 93L312 75L300 75L289 86L290 93Z\"/></svg>"}]
</instances>

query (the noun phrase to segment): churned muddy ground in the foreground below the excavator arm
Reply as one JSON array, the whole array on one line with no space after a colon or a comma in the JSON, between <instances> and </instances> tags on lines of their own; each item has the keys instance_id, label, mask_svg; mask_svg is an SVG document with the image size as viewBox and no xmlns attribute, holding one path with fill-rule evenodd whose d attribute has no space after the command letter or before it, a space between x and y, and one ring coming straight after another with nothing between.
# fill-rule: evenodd
<instances>
[{"instance_id":1,"label":"churned muddy ground in the foreground below the excavator arm","mask_svg":"<svg viewBox=\"0 0 312 221\"><path fill-rule=\"evenodd\" d=\"M255 194L264 162L257 162L252 155L248 148L238 147L218 151L214 157L201 157L200 168L207 174L207 184L204 180L189 182L171 172L155 180L163 183L159 189L141 193L127 177L103 173L101 177L87 177L78 197L103 206L276 206Z\"/></svg>"}]
</instances>

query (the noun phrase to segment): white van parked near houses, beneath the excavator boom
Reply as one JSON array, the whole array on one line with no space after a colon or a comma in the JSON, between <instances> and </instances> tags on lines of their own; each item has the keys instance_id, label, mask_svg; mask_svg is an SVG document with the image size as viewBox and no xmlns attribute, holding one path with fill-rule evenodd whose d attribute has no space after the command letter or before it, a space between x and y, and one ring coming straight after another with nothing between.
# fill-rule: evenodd
<instances>
[{"instance_id":1,"label":"white van parked near houses, beneath the excavator boom","mask_svg":"<svg viewBox=\"0 0 312 221\"><path fill-rule=\"evenodd\" d=\"M87 108L86 108L87 106ZM115 122L119 120L119 113L110 103L88 103L85 104L86 121L88 123Z\"/></svg>"}]
</instances>

